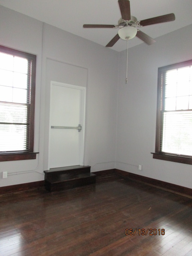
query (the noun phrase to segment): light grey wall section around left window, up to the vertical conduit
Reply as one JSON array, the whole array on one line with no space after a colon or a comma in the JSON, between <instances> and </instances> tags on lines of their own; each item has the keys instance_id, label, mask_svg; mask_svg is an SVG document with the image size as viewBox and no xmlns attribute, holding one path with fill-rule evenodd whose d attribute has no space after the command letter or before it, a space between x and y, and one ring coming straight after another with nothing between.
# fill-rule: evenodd
<instances>
[{"instance_id":1,"label":"light grey wall section around left window, up to the vertical conduit","mask_svg":"<svg viewBox=\"0 0 192 256\"><path fill-rule=\"evenodd\" d=\"M0 6L0 24L1 45L37 55L34 151L39 152L43 24L2 6ZM0 162L0 186L43 180L41 159L42 156L39 154L36 160ZM8 172L7 179L2 179L3 171ZM14 172L22 172L22 175Z\"/></svg>"}]
</instances>

